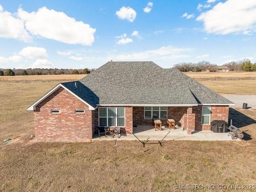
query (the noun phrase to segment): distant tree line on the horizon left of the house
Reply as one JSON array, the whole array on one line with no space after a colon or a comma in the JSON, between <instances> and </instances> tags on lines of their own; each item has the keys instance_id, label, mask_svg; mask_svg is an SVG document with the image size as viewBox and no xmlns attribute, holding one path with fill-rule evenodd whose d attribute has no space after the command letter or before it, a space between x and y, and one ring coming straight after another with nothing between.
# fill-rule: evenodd
<instances>
[{"instance_id":1,"label":"distant tree line on the horizon left of the house","mask_svg":"<svg viewBox=\"0 0 256 192\"><path fill-rule=\"evenodd\" d=\"M28 69L0 69L0 76L15 76L15 75L60 75L60 74L89 74L95 68L88 69L57 69L57 68L28 68Z\"/></svg>"}]
</instances>

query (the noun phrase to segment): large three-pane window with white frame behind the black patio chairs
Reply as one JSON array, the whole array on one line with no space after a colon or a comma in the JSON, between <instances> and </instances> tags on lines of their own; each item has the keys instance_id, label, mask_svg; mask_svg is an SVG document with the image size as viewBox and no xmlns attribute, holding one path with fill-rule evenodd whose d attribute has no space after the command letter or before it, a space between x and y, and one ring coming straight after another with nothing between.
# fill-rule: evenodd
<instances>
[{"instance_id":1,"label":"large three-pane window with white frame behind the black patio chairs","mask_svg":"<svg viewBox=\"0 0 256 192\"><path fill-rule=\"evenodd\" d=\"M99 126L125 126L124 107L99 108Z\"/></svg>"}]
</instances>

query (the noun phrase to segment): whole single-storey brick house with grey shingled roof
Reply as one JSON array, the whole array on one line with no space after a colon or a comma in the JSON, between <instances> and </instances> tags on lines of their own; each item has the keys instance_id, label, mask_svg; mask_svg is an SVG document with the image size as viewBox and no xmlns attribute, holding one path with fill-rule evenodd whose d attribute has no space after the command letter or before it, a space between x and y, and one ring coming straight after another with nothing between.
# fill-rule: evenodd
<instances>
[{"instance_id":1,"label":"whole single-storey brick house with grey shingled roof","mask_svg":"<svg viewBox=\"0 0 256 192\"><path fill-rule=\"evenodd\" d=\"M226 98L175 69L154 62L108 62L80 81L56 85L34 111L36 141L90 141L98 126L152 125L174 119L187 134L228 122Z\"/></svg>"}]
</instances>

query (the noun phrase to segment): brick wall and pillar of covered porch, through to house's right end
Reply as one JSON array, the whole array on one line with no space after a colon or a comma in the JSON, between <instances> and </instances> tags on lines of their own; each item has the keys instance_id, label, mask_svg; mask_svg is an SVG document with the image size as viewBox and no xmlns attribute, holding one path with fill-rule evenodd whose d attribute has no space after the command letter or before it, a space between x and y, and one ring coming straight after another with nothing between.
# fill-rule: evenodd
<instances>
[{"instance_id":1,"label":"brick wall and pillar of covered porch, through to house's right end","mask_svg":"<svg viewBox=\"0 0 256 192\"><path fill-rule=\"evenodd\" d=\"M224 120L228 122L228 106L211 106L210 122ZM194 130L211 130L211 125L202 125L202 106L168 107L168 119L174 119L191 134ZM166 124L165 119L161 119ZM133 107L134 125L152 125L152 119L144 119L144 107Z\"/></svg>"}]
</instances>

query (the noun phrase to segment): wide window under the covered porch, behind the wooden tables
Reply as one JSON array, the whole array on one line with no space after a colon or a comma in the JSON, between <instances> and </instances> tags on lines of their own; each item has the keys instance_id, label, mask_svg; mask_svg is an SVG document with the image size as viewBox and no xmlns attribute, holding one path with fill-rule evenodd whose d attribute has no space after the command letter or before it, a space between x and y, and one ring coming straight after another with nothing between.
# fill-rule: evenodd
<instances>
[{"instance_id":1,"label":"wide window under the covered porch, behind the wooden tables","mask_svg":"<svg viewBox=\"0 0 256 192\"><path fill-rule=\"evenodd\" d=\"M167 107L145 107L145 119L167 119Z\"/></svg>"}]
</instances>

